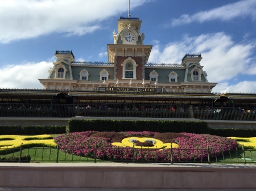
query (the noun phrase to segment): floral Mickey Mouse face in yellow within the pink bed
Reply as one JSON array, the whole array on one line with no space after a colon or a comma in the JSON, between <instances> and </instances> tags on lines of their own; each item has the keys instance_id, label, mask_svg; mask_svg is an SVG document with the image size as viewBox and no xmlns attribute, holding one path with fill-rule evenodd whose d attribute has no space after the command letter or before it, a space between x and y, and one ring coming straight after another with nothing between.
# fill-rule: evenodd
<instances>
[{"instance_id":1,"label":"floral Mickey Mouse face in yellow within the pink bed","mask_svg":"<svg viewBox=\"0 0 256 191\"><path fill-rule=\"evenodd\" d=\"M134 148L171 148L171 143L163 143L159 139L148 137L127 137L122 139L121 142L112 143L112 145L119 147L133 147L133 144ZM176 143L172 143L172 148L177 147L179 147L179 145L177 145Z\"/></svg>"}]
</instances>

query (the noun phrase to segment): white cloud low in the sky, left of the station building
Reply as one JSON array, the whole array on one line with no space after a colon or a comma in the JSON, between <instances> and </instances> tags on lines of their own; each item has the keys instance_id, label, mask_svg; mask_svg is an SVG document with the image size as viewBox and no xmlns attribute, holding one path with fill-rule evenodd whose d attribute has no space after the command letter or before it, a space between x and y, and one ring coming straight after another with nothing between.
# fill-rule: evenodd
<instances>
[{"instance_id":1,"label":"white cloud low in the sky, left of the station building","mask_svg":"<svg viewBox=\"0 0 256 191\"><path fill-rule=\"evenodd\" d=\"M47 79L52 62L7 65L0 69L1 88L43 88L38 79Z\"/></svg>"}]
</instances>

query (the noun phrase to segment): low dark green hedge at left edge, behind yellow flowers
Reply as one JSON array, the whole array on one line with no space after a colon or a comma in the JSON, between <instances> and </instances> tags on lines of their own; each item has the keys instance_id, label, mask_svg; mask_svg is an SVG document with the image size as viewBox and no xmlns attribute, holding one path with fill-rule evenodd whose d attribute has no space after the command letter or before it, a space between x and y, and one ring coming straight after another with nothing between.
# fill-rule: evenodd
<instances>
[{"instance_id":1,"label":"low dark green hedge at left edge, behind yellow flowers","mask_svg":"<svg viewBox=\"0 0 256 191\"><path fill-rule=\"evenodd\" d=\"M0 125L0 135L40 135L66 133L66 126L36 125L36 126L7 126Z\"/></svg>"}]
</instances>

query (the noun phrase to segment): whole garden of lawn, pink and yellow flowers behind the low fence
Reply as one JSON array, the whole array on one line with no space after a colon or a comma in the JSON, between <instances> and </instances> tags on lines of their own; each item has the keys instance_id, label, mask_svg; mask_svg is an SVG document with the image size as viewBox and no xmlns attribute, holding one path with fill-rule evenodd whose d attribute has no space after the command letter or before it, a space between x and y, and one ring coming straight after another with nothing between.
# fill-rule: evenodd
<instances>
[{"instance_id":1,"label":"whole garden of lawn, pink and yellow flowers behind the low fence","mask_svg":"<svg viewBox=\"0 0 256 191\"><path fill-rule=\"evenodd\" d=\"M38 128L49 131L48 127ZM256 162L255 137L210 135L198 132L200 127L183 126L188 133L165 132L159 127L160 132L131 131L127 127L124 129L129 131L99 131L97 125L71 133L77 128L68 128L68 133L57 135L0 135L0 161L18 160L21 156L19 160L26 162ZM172 131L177 131L174 128ZM52 129L56 131L55 127ZM201 127L200 131L208 130ZM197 133L189 133L193 131Z\"/></svg>"}]
</instances>

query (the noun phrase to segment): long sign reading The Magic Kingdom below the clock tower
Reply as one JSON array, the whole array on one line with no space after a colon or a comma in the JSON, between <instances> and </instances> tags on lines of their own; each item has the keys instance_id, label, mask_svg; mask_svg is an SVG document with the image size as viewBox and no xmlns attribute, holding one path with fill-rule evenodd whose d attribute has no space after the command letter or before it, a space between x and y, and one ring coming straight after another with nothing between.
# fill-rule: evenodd
<instances>
[{"instance_id":1,"label":"long sign reading The Magic Kingdom below the clock tower","mask_svg":"<svg viewBox=\"0 0 256 191\"><path fill-rule=\"evenodd\" d=\"M125 91L125 92L163 92L163 88L148 87L98 87L98 91Z\"/></svg>"}]
</instances>

